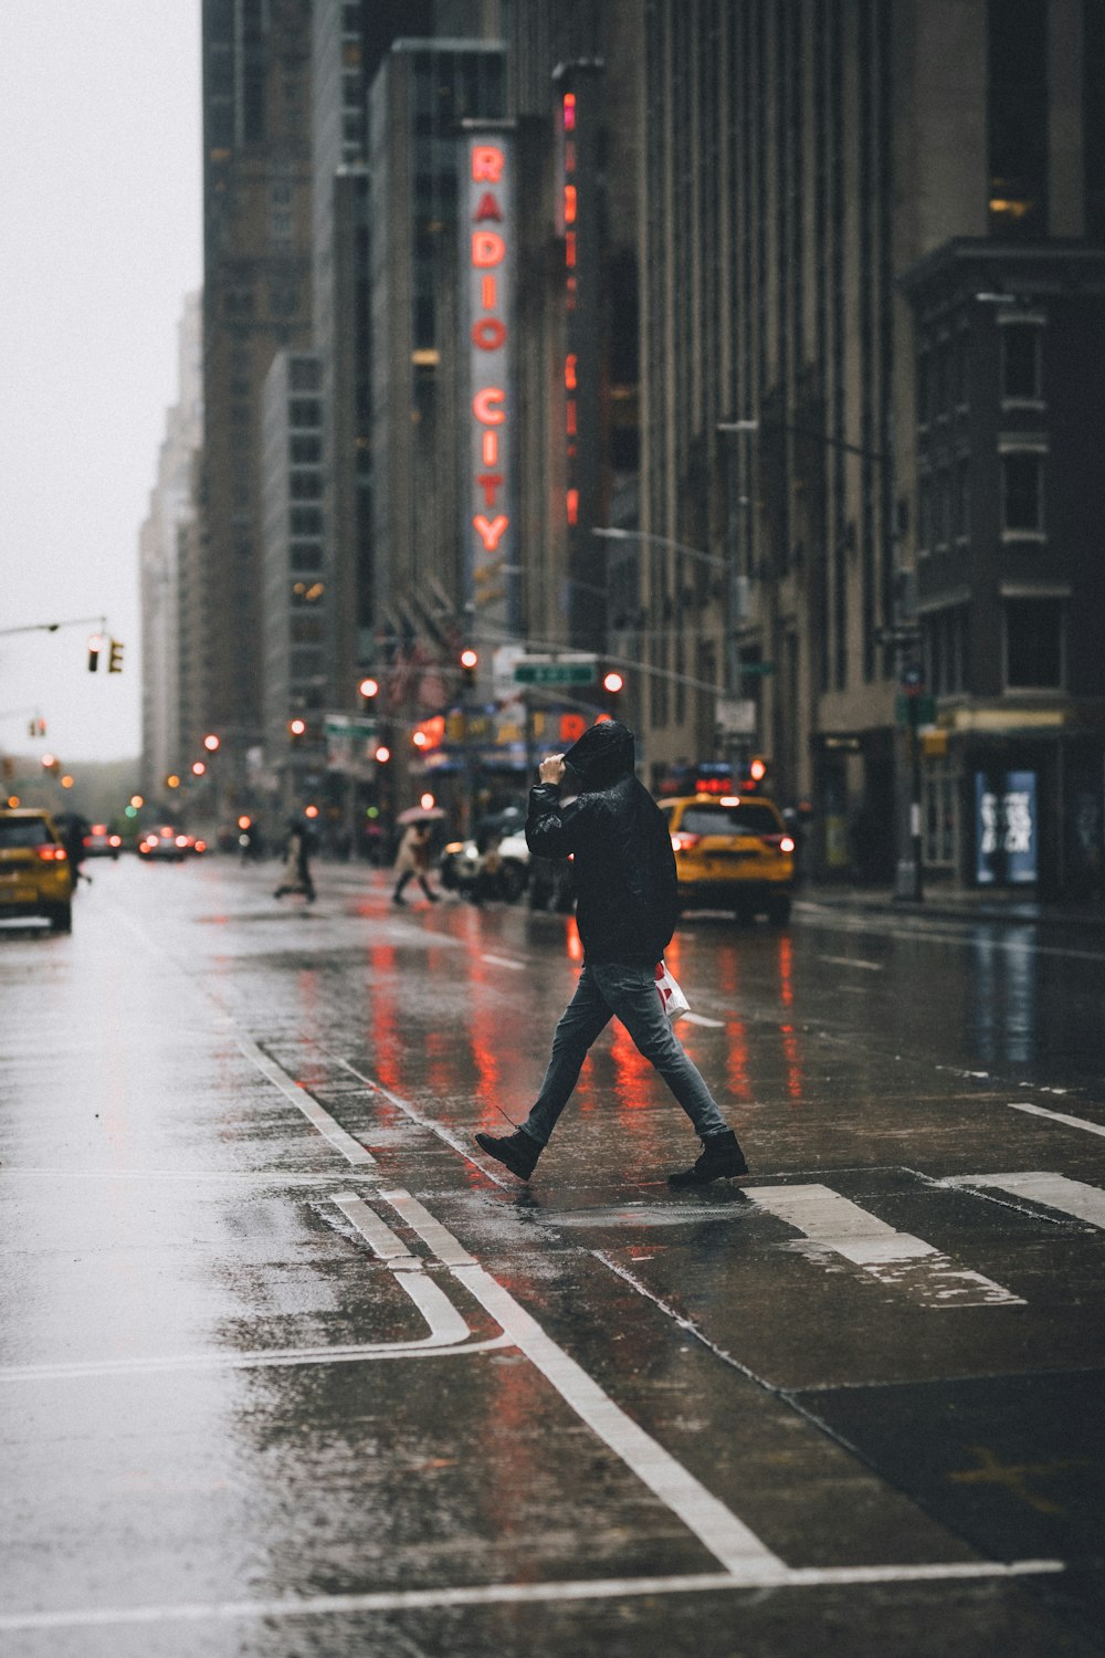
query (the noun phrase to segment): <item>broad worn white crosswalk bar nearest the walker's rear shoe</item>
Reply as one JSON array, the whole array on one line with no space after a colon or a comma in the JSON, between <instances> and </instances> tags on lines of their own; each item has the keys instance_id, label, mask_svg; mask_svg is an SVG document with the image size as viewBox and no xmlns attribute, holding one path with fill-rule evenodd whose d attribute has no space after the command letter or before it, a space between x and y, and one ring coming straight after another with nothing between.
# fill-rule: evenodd
<instances>
[{"instance_id":1,"label":"broad worn white crosswalk bar nearest the walker's rear shoe","mask_svg":"<svg viewBox=\"0 0 1105 1658\"><path fill-rule=\"evenodd\" d=\"M1001 1283L956 1267L933 1244L896 1232L827 1185L746 1185L742 1190L760 1209L797 1227L817 1248L843 1255L883 1283L911 1290L928 1307L1024 1305L1022 1297Z\"/></svg>"}]
</instances>

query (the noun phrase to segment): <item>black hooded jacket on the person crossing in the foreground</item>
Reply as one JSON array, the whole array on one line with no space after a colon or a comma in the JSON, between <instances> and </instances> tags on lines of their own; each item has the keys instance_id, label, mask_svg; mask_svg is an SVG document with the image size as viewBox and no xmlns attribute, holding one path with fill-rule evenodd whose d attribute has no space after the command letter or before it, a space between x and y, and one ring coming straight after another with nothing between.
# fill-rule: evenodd
<instances>
[{"instance_id":1,"label":"black hooded jacket on the person crossing in the foreground","mask_svg":"<svg viewBox=\"0 0 1105 1658\"><path fill-rule=\"evenodd\" d=\"M525 841L535 857L572 857L586 962L653 967L676 930L676 861L633 758L633 733L616 720L585 731L563 756L578 797L562 806L558 784L530 789Z\"/></svg>"}]
</instances>

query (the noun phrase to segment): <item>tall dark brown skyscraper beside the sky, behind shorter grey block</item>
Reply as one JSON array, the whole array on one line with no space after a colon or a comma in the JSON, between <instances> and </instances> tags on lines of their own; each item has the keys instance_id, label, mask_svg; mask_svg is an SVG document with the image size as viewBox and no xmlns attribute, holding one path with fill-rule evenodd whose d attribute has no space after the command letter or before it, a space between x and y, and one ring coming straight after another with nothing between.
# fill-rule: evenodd
<instances>
[{"instance_id":1,"label":"tall dark brown skyscraper beside the sky, behind shorter grey block","mask_svg":"<svg viewBox=\"0 0 1105 1658\"><path fill-rule=\"evenodd\" d=\"M310 0L204 0L204 403L186 739L222 738L225 781L262 736L260 401L310 345ZM321 506L316 506L321 522Z\"/></svg>"}]
</instances>

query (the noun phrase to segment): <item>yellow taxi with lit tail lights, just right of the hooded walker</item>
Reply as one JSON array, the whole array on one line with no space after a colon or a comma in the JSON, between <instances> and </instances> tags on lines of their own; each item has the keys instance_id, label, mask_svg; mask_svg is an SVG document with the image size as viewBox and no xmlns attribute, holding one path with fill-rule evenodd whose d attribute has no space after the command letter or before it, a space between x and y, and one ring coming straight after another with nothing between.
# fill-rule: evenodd
<instances>
[{"instance_id":1,"label":"yellow taxi with lit tail lights, just right of the hooded walker","mask_svg":"<svg viewBox=\"0 0 1105 1658\"><path fill-rule=\"evenodd\" d=\"M684 909L726 909L739 922L790 920L794 839L762 794L686 794L658 801L668 817Z\"/></svg>"}]
</instances>

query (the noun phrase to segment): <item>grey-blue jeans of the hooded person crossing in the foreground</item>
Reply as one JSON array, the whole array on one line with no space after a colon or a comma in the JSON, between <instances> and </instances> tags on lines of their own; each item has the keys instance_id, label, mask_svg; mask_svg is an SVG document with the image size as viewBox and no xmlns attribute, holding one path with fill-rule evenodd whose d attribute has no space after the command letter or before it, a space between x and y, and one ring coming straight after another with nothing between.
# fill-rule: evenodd
<instances>
[{"instance_id":1,"label":"grey-blue jeans of the hooded person crossing in the foreground","mask_svg":"<svg viewBox=\"0 0 1105 1658\"><path fill-rule=\"evenodd\" d=\"M611 1018L621 1020L694 1124L694 1132L724 1134L729 1124L664 1013L651 967L601 962L585 967L553 1036L542 1091L522 1129L542 1146L572 1098L588 1048Z\"/></svg>"}]
</instances>

